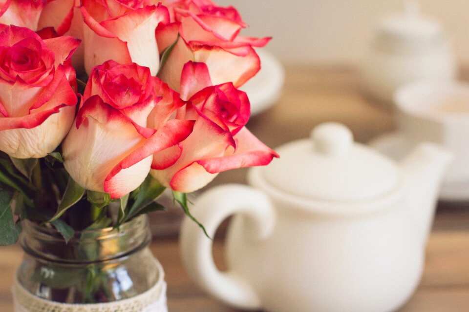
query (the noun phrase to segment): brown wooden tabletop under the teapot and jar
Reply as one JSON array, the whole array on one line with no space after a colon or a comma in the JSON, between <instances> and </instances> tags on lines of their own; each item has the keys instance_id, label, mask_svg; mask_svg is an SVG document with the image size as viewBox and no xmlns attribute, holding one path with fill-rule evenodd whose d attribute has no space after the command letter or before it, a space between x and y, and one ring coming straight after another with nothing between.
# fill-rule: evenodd
<instances>
[{"instance_id":1,"label":"brown wooden tabletop under the teapot and jar","mask_svg":"<svg viewBox=\"0 0 469 312\"><path fill-rule=\"evenodd\" d=\"M465 72L462 78L467 78ZM269 110L252 117L248 128L271 147L308 137L323 121L338 121L366 142L392 131L391 109L363 96L358 75L348 68L288 68L283 96ZM219 175L211 186L245 182L246 170ZM182 267L175 236L155 238L153 253L166 271L170 312L236 312L207 296ZM224 268L223 241L214 258ZM13 311L10 287L21 262L18 246L0 248L0 312ZM421 283L400 312L469 311L469 202L440 202L426 249Z\"/></svg>"}]
</instances>

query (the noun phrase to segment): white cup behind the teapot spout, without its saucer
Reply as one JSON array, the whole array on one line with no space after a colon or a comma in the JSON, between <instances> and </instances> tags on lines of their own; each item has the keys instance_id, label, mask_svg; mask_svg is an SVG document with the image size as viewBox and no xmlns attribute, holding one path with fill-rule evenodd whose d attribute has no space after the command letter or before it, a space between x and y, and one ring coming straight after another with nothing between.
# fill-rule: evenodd
<instances>
[{"instance_id":1,"label":"white cup behind the teapot spout, without its saucer","mask_svg":"<svg viewBox=\"0 0 469 312\"><path fill-rule=\"evenodd\" d=\"M469 84L461 81L421 81L395 95L398 128L411 142L431 141L455 154L444 183L469 179Z\"/></svg>"}]
</instances>

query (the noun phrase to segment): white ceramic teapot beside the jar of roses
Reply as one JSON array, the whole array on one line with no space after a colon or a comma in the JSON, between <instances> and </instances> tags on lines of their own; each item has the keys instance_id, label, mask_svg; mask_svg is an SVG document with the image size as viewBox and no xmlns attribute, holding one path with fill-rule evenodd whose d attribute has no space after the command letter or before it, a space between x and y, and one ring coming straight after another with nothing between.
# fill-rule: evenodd
<instances>
[{"instance_id":1,"label":"white ceramic teapot beside the jar of roses","mask_svg":"<svg viewBox=\"0 0 469 312\"><path fill-rule=\"evenodd\" d=\"M401 163L325 123L312 139L277 149L253 168L251 188L226 185L199 196L192 214L227 234L228 272L212 241L186 219L180 247L187 271L237 308L269 312L385 312L401 306L423 269L440 178L451 155L424 143Z\"/></svg>"}]
</instances>

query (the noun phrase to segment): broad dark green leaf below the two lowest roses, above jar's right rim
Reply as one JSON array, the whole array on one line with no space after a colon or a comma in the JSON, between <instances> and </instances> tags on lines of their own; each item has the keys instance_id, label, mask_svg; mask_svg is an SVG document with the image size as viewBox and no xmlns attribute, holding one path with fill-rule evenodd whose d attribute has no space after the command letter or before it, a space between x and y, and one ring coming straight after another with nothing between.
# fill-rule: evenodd
<instances>
[{"instance_id":1,"label":"broad dark green leaf below the two lowest roses, above jar's right rim","mask_svg":"<svg viewBox=\"0 0 469 312\"><path fill-rule=\"evenodd\" d=\"M135 201L128 210L124 220L128 221L134 216L140 215L140 211L152 203L159 195L163 194L164 191L165 187L151 175L148 175L138 190L134 191L138 192L138 194L136 195Z\"/></svg>"}]
</instances>

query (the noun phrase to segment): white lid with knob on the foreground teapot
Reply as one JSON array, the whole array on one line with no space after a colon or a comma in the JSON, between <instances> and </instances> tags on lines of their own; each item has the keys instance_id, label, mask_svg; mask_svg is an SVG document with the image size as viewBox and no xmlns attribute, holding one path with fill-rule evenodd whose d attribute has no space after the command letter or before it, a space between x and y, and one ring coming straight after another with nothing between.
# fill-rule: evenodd
<instances>
[{"instance_id":1,"label":"white lid with knob on the foreground teapot","mask_svg":"<svg viewBox=\"0 0 469 312\"><path fill-rule=\"evenodd\" d=\"M399 183L397 165L371 148L354 143L350 130L339 123L323 123L310 139L287 143L261 176L272 186L314 200L374 199Z\"/></svg>"}]
</instances>

